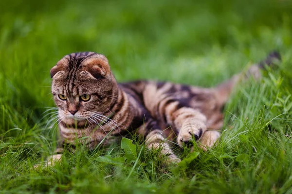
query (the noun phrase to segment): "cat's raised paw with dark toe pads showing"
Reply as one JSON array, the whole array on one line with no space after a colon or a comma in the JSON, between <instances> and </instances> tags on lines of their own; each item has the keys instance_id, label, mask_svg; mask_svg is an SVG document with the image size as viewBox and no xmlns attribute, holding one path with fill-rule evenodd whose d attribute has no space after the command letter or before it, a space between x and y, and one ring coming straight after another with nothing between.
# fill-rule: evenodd
<instances>
[{"instance_id":1,"label":"cat's raised paw with dark toe pads showing","mask_svg":"<svg viewBox=\"0 0 292 194\"><path fill-rule=\"evenodd\" d=\"M202 122L186 123L178 135L178 144L180 146L187 145L192 139L199 140L206 130L205 124Z\"/></svg>"}]
</instances>

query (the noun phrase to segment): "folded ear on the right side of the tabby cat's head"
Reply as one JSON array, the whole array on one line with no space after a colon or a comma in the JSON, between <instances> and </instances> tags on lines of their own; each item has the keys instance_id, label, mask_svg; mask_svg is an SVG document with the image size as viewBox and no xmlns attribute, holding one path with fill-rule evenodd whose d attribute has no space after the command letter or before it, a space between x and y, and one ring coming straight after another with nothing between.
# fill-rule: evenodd
<instances>
[{"instance_id":1,"label":"folded ear on the right side of the tabby cat's head","mask_svg":"<svg viewBox=\"0 0 292 194\"><path fill-rule=\"evenodd\" d=\"M110 75L110 65L105 57L88 59L83 66L95 79Z\"/></svg>"}]
</instances>

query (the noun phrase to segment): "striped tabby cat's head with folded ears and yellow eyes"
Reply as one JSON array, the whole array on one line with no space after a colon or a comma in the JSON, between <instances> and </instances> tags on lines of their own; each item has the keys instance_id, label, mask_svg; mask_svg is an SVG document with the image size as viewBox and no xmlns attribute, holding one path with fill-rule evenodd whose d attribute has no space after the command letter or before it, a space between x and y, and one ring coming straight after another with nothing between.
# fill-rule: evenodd
<instances>
[{"instance_id":1,"label":"striped tabby cat's head with folded ears and yellow eyes","mask_svg":"<svg viewBox=\"0 0 292 194\"><path fill-rule=\"evenodd\" d=\"M86 120L107 111L117 93L108 59L94 52L72 53L51 69L52 94L61 120Z\"/></svg>"}]
</instances>

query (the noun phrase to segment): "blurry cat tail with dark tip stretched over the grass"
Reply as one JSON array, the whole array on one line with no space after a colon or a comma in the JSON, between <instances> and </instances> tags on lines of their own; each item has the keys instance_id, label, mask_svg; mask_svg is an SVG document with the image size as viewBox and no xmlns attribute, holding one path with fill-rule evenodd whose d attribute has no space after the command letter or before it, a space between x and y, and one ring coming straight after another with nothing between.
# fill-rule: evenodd
<instances>
[{"instance_id":1,"label":"blurry cat tail with dark tip stretched over the grass","mask_svg":"<svg viewBox=\"0 0 292 194\"><path fill-rule=\"evenodd\" d=\"M265 69L267 66L275 66L281 61L281 55L277 51L271 52L267 58L258 64L251 65L246 71L242 71L239 74L234 75L230 80L219 84L215 89L218 94L219 104L223 105L229 99L233 89L236 85L245 81L250 77L258 80L261 78L261 69Z\"/></svg>"}]
</instances>

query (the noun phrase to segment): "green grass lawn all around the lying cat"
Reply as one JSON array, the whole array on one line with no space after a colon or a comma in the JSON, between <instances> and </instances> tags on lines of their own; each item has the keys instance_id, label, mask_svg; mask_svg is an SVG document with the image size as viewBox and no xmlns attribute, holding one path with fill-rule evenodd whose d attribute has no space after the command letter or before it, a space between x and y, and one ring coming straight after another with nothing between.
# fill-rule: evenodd
<instances>
[{"instance_id":1,"label":"green grass lawn all around the lying cat","mask_svg":"<svg viewBox=\"0 0 292 194\"><path fill-rule=\"evenodd\" d=\"M3 0L0 13L0 192L292 193L291 1ZM274 49L279 68L239 85L208 152L181 150L185 160L165 167L140 141L78 146L32 168L56 147L42 117L54 106L49 71L65 54L105 54L118 81L214 86Z\"/></svg>"}]
</instances>

